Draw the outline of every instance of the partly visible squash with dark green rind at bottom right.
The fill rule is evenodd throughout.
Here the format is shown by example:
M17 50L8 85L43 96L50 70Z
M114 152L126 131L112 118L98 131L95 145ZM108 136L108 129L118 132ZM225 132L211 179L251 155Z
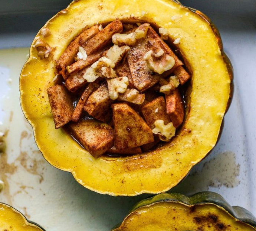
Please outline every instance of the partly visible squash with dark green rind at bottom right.
M256 218L213 192L163 193L139 202L112 231L254 231Z

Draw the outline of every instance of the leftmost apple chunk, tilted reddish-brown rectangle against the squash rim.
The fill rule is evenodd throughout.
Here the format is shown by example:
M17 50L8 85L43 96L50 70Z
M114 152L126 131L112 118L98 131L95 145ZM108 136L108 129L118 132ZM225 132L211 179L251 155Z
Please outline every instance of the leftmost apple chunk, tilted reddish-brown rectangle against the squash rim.
M64 85L54 85L47 89L55 128L58 129L72 120L73 104Z

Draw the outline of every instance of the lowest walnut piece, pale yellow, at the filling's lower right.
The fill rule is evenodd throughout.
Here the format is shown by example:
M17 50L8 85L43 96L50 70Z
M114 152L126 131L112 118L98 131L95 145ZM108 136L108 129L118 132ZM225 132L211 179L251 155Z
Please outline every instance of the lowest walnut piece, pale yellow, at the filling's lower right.
M170 139L175 136L176 129L173 126L173 123L170 122L167 125L164 124L164 120L158 119L154 122L155 128L152 129L154 134L158 134L160 140L170 141Z

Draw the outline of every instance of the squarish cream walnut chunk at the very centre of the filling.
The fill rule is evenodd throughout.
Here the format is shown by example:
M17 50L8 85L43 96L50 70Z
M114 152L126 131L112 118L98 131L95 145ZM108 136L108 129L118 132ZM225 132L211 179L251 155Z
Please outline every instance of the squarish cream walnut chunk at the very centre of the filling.
M107 79L109 97L113 100L118 98L119 93L124 93L129 85L128 78L126 76Z

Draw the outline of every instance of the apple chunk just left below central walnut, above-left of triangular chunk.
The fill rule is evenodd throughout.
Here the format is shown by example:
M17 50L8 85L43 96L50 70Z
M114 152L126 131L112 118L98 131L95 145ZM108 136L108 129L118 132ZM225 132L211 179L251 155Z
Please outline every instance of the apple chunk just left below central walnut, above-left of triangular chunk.
M87 101L83 109L88 112L89 115L103 122L111 120L111 104L112 99L109 98L108 86L102 84L96 91L94 91Z

